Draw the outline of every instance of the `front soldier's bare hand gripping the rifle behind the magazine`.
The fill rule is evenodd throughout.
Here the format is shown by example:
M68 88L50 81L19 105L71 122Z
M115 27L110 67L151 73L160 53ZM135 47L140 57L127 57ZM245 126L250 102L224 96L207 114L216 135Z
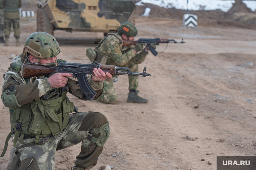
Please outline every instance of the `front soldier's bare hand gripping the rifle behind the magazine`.
M67 83L68 78L73 77L73 74L69 73L55 73L48 78L52 88L61 88L64 87Z

